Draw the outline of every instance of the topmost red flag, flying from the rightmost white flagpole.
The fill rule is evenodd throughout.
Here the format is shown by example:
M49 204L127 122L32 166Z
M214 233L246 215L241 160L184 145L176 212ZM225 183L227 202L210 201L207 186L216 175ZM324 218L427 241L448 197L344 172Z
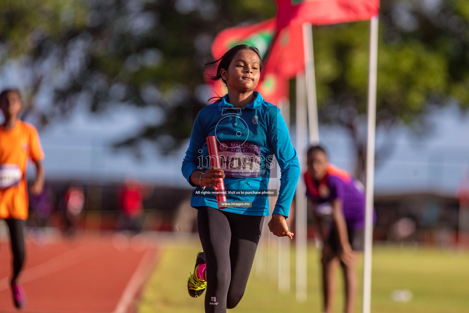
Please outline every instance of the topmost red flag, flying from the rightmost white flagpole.
M378 15L379 0L277 0L277 27L309 22L314 25L369 20Z

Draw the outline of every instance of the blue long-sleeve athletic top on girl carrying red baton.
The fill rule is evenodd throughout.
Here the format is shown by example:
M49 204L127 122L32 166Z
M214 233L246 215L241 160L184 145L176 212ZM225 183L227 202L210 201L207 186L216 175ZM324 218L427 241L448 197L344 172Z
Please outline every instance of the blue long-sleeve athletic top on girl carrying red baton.
M249 105L235 108L221 101L203 107L198 113L189 148L182 162L182 175L190 181L197 168L210 168L206 137L216 136L221 168L225 172L224 184L227 201L252 201L251 207L227 207L228 212L265 216L269 215L268 197L260 194L241 194L265 191L271 170L280 166L280 190L273 213L288 217L300 166L280 109L265 101L259 92ZM205 188L205 191L212 190ZM202 195L196 186L190 204L193 207L218 208L215 195ZM213 190L212 190L213 191ZM229 194L232 191L232 194Z

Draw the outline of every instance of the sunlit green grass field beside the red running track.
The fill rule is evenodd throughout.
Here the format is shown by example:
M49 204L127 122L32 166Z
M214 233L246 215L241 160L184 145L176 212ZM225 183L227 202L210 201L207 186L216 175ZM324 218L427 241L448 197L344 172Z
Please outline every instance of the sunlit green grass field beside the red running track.
M167 245L145 286L140 313L203 313L203 298L190 298L186 281L193 270L198 243ZM246 293L232 312L303 313L321 312L319 254L308 250L308 300L295 301L295 269L291 269L291 291L280 294L275 279L257 277L253 268ZM292 249L291 264L295 264ZM362 265L359 265L361 277ZM342 278L337 275L338 292L335 312L342 310ZM361 282L360 282L361 284ZM391 292L409 289L408 303L395 302ZM415 249L376 246L373 252L371 311L377 313L467 313L469 312L469 253L439 249ZM356 312L361 312L361 295Z

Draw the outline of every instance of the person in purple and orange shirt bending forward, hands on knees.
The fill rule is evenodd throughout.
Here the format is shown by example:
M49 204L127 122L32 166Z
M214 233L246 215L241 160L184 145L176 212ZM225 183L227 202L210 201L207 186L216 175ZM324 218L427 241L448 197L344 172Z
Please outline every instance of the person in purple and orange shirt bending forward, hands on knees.
M356 260L364 244L365 195L363 185L348 172L329 163L325 149L308 150L304 173L306 196L323 241L324 312L333 312L335 269L339 261L345 278L345 310L352 313L357 293Z

